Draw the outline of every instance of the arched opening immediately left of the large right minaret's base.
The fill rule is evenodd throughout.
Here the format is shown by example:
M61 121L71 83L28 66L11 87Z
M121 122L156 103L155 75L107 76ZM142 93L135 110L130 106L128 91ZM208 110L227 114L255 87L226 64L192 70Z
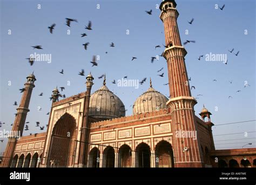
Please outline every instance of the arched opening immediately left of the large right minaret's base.
M156 145L156 167L170 168L174 167L172 146L167 141L160 141Z

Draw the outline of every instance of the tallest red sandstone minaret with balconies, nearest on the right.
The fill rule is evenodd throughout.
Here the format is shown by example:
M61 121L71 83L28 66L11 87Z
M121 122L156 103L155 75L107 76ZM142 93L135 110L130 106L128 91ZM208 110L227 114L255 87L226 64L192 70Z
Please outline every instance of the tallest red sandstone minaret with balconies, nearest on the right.
M174 0L160 4L160 19L164 23L164 57L167 60L171 99L167 106L171 108L174 167L203 167L203 154L199 147L194 105L197 101L191 97L185 65L186 50L181 46ZM185 133L185 134L184 134Z

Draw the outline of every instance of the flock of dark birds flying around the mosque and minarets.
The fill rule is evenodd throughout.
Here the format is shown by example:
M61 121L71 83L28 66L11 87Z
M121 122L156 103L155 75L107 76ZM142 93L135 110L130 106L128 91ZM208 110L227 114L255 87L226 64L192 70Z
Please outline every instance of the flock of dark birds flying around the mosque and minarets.
M219 9L221 10L221 11L223 11L224 10L224 7L225 7L225 4L223 5L223 6L221 6ZM152 15L152 10L149 10L149 11L145 11L148 15ZM72 19L72 18L65 18L65 22L66 22L66 26L68 26L68 27L71 27L71 23L78 23L78 20L77 19ZM194 18L192 18L190 21L187 21L188 22L188 24L193 24L193 22L194 22ZM53 30L55 30L55 28L56 28L56 23L53 23L52 25L50 25L50 26L48 26L48 29L49 29L49 32L51 33L51 34L53 34ZM91 31L92 30L92 22L91 21L89 21L89 23L85 26L85 30L88 30L88 31ZM86 37L87 36L87 33L81 33L80 34L81 35L81 37ZM195 40L186 40L183 44L184 45L186 45L186 44L188 44L188 43L196 43L196 41ZM86 42L86 43L84 43L83 44L83 47L84 47L84 50L87 50L88 49L88 47L89 47L89 42ZM164 48L167 48L168 46L166 46L166 45L164 45L164 44L162 44L163 45L163 47ZM112 43L110 43L110 45L109 45L110 47L115 47L115 45L114 45L114 43L112 42ZM33 49L37 49L37 50L43 50L43 47L42 47L42 45L35 45L35 46L31 46ZM156 45L155 47L154 47L154 49L155 50L157 50L158 48L161 48L161 45ZM235 56L238 56L238 54L239 54L239 51L237 51L237 52L234 52L234 49L232 49L232 50L228 50L230 53L233 53L233 54L235 54ZM107 52L105 52L106 54L107 54ZM159 54L159 57L163 57L163 53L161 53L161 54ZM201 58L203 58L204 57L204 55L203 54L201 54L200 56L199 56L199 58L198 58L198 60L201 60ZM30 58L26 58L26 59L28 59L29 60L29 64L32 66L34 63L35 63L35 58L32 58L32 57L30 57ZM136 56L132 56L131 57L131 61L134 61L134 60L137 60L138 58L136 57ZM151 57L151 63L154 63L154 61L155 60L158 60L158 58L157 57ZM92 61L90 61L90 63L92 64L92 67L93 66L98 66L98 63L97 63L97 58L96 58L96 56L92 56ZM226 60L226 62L225 62L225 64L227 65L227 60ZM157 76L159 76L159 77L164 77L164 72L162 72L162 70L164 70L164 67L161 67L159 70L157 70ZM61 69L60 71L58 71L60 74L64 74L64 69ZM78 75L79 76L85 76L85 71L84 71L84 69L81 69L79 72L78 72ZM103 78L104 77L104 74L102 74L100 77L98 77L98 79L101 79L101 78ZM127 79L128 78L128 76L124 76L123 77L123 79ZM139 84L140 85L143 85L144 83L145 83L145 81L146 81L146 77L145 78L143 78L142 80L140 80L139 81ZM188 79L189 81L191 81L191 77ZM217 82L217 79L213 79L213 81L214 82ZM116 80L115 79L113 79L112 81L111 81L111 83L112 84L116 84ZM230 83L232 84L232 81L230 81ZM166 83L166 84L163 84L163 85L169 85L169 83ZM245 85L245 87L246 86L250 86L250 85ZM59 87L60 88L60 91L64 91L65 90L65 87ZM196 87L195 86L191 86L191 90L195 90L196 89ZM19 91L22 93L22 92L24 92L25 91L25 88L21 88L21 89L19 89ZM238 90L237 91L237 93L239 93L239 92L241 92L241 90ZM43 92L42 93L40 93L39 94L39 96L43 96ZM65 94L59 94L59 96L60 97L62 97L62 98L66 98L66 96L65 96ZM203 94L197 94L197 97L196 97L196 99L199 99L199 97L200 96L203 96ZM169 98L170 98L170 96L168 96ZM79 97L74 97L74 98L79 98ZM232 96L230 95L229 97L228 97L228 99L230 99L230 98L232 98ZM52 100L52 97L50 97L50 100ZM71 105L72 103L70 103L70 105ZM18 106L18 104L17 104L17 101L15 101L14 102L14 106ZM131 106L130 106L131 107ZM127 111L127 110L126 110ZM17 114L15 114L15 115L17 115ZM46 115L49 115L49 112L46 114ZM0 122L0 127L2 127L2 125L4 125L5 123L3 122ZM29 122L26 122L25 123L25 131L29 131ZM11 124L11 126L12 126L12 124ZM36 127L39 127L39 129L42 131L42 130L44 130L44 126L40 126L40 122L36 122L36 125L35 125ZM46 127L47 127L48 125L46 125ZM30 135L31 135L32 133L30 133ZM3 142L3 140L0 140L0 141L2 141Z

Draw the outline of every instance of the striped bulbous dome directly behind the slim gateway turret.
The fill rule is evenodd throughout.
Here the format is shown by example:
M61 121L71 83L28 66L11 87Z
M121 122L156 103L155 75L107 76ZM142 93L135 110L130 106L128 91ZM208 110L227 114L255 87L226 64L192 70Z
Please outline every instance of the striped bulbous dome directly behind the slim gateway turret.
M105 77L103 86L91 94L89 115L103 120L125 117L124 104L107 88Z

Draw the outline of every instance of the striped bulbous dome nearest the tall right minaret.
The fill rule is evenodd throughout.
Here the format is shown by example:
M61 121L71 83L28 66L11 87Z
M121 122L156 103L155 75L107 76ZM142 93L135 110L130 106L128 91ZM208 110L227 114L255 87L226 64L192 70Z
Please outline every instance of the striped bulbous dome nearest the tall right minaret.
M168 98L160 92L154 90L150 79L150 88L137 98L133 104L133 114L158 111L167 108Z

